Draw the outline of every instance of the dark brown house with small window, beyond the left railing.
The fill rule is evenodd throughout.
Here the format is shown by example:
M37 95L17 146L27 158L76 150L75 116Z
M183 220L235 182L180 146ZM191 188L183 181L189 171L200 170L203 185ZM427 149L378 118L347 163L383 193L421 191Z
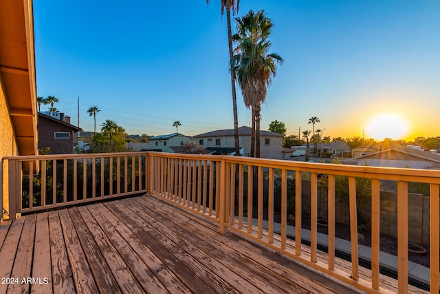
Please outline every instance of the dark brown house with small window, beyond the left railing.
M71 125L70 118L63 113L50 114L39 112L39 149L50 147L51 154L73 154L74 134L81 129Z

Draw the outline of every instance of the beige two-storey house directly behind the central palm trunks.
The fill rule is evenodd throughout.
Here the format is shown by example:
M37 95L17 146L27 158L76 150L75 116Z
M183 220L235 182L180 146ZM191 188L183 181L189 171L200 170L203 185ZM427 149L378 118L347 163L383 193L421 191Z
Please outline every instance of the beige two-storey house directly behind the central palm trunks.
M243 149L242 155L244 156L250 155L251 132L252 129L250 127L239 127L239 145ZM235 149L234 129L219 129L199 134L192 138L195 140L195 143L205 147L207 150L210 147ZM261 131L260 138L261 158L283 158L283 134Z

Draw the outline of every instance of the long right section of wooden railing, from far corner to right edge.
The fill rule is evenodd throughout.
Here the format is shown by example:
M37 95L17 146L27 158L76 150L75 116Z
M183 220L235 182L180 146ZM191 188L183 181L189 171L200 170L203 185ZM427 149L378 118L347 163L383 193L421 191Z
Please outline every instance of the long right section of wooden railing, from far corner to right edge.
M148 157L150 169L155 171L150 178L151 193L219 222L221 233L230 229L245 235L264 246L369 293L386 292L380 284L380 180L397 181L399 293L408 292L408 182L427 183L430 185L430 292L439 293L440 171L291 162L238 156L185 156L153 153ZM351 275L347 275L345 271L336 266L337 177L347 177L348 182ZM301 238L302 197L294 197L294 209L292 205L289 207L287 204L288 194L290 198L292 194L294 196L303 194L303 178L307 178L310 185L308 195L311 208L309 211L309 251L303 250L303 238ZM329 207L326 258L318 258L318 182L322 178L325 178L326 182ZM359 178L371 181L369 280L364 280L359 274L358 209L356 207L356 182ZM291 187L288 190L289 181ZM274 229L276 211L280 218L279 231ZM287 236L288 214L293 214L295 218L294 242L288 240ZM252 222L256 222L256 225ZM263 229L263 222L267 222L267 229Z

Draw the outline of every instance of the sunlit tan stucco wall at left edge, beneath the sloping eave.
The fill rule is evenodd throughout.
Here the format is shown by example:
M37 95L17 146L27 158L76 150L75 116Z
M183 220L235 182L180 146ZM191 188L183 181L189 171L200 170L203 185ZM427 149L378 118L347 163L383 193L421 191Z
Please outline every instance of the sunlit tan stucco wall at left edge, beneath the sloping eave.
M2 216L0 220L3 220L3 209L9 208L9 190L8 185L3 185L3 182L8 183L8 165L3 162L4 156L17 155L17 142L14 137L14 129L9 116L9 106L6 102L5 87L0 73L0 206Z

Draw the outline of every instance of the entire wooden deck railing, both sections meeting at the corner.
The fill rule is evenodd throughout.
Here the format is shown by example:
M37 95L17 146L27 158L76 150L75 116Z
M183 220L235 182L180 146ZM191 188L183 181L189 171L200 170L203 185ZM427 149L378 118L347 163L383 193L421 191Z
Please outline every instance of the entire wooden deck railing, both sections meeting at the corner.
M408 292L408 183L426 183L430 187L430 293L439 293L440 171L157 152L7 159L10 202L14 202L12 206L17 207L17 213L149 193L217 222L221 233L235 231L369 293L385 291L380 282L381 180L397 181L399 293ZM34 175L34 168L29 163L35 161L39 166L38 176ZM30 171L21 176L25 165L30 166ZM28 188L23 185L26 177L29 178ZM347 179L350 275L338 268L335 257L336 182L341 177ZM310 185L307 187L310 191L307 194L310 202L310 246L307 250L301 236L302 197L297 197L303 195L305 178ZM368 179L371 187L371 270L365 269L370 271L368 280L360 275L359 265L358 179ZM106 185L102 185L104 182ZM323 182L328 196L328 253L318 251L318 193ZM36 187L41 187L40 192ZM289 215L294 216L294 241L287 235ZM325 258L320 257L322 254Z

